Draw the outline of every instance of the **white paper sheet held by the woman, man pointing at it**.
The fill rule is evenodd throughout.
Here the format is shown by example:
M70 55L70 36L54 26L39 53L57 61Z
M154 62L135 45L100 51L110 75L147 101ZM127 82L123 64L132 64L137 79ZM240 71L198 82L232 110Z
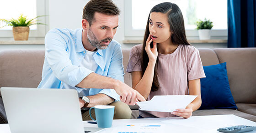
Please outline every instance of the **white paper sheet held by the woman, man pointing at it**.
M136 102L139 110L173 112L176 109L185 109L197 96L194 95L163 95L154 96L150 101Z

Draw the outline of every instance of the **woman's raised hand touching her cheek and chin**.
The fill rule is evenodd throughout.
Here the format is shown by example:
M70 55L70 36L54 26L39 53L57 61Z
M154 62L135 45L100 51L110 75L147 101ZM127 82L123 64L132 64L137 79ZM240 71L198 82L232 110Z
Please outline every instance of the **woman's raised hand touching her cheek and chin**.
M150 48L150 43L152 41L153 40L151 39L151 35L149 35L149 37L146 41L145 51L147 52L147 54L149 56L149 61L156 62L158 52L157 52L157 48L156 48L156 42L153 42L153 48Z

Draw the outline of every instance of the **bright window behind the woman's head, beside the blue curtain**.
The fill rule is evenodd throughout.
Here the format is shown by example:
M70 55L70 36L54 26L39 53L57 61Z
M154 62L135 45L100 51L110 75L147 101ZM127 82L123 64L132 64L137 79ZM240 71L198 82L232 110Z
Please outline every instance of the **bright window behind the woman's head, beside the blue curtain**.
M150 10L162 2L171 2L181 9L188 38L198 36L195 22L204 18L213 21L212 36L227 37L227 0L125 0L125 36L143 36ZM214 39L214 37L212 37Z

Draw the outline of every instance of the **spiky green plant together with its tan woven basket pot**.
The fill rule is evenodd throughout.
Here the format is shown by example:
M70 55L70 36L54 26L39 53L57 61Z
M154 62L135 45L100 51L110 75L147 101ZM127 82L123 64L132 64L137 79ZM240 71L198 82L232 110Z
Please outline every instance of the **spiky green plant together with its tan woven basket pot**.
M43 23L38 23L37 22L38 20L35 20L36 18L42 17L42 16L45 16L45 15L39 15L31 20L28 20L27 16L23 16L21 14L18 19L13 19L13 18L11 20L0 19L0 21L5 22L5 26L12 26L12 32L13 32L13 37L15 41L27 40L28 34L29 34L29 26L46 25Z

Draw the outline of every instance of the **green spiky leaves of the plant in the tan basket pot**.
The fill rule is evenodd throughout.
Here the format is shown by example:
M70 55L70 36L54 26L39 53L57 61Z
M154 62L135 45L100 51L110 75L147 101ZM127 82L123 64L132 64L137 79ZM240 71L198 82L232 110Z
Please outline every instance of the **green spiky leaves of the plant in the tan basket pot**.
M23 16L23 14L21 14L18 19L13 19L13 18L11 20L0 19L0 21L5 22L5 25L1 26L0 28L5 27L5 26L13 26L13 27L27 26L27 27L29 27L32 25L46 25L46 24L37 22L39 20L35 20L36 18L43 17L43 16L46 16L46 15L39 15L31 20L28 20L27 16Z

